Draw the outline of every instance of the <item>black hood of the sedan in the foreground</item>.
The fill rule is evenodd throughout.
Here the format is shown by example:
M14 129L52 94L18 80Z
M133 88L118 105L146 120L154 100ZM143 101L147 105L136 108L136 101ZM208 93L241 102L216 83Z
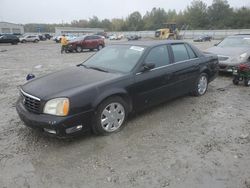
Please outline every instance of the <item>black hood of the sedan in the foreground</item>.
M24 84L22 90L40 99L63 97L65 92L75 88L96 87L103 82L121 77L121 73L107 73L87 69L83 66L69 68L40 78L35 78Z

